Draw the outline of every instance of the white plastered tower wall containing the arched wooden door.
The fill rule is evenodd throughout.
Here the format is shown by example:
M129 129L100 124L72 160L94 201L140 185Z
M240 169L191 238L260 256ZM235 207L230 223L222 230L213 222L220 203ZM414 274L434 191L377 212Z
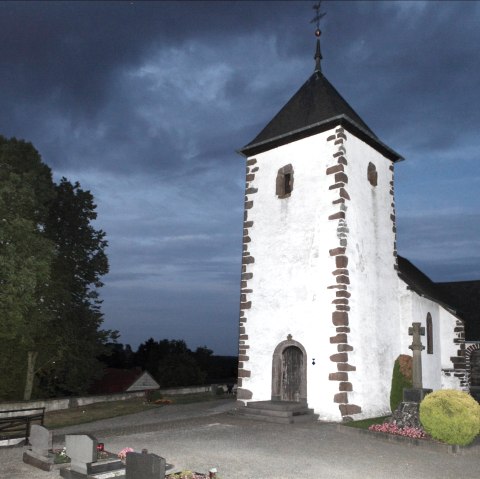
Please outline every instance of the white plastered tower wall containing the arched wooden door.
M258 188L249 210L251 243L255 263L248 271L253 278L246 332L250 346L251 371L242 387L252 391L252 400L271 397L272 355L275 347L291 334L307 352L309 406L321 418L339 419L333 404L337 384L328 380L332 370L327 360L332 354L333 269L329 249L336 244L336 224L328 221L335 198L329 190L331 179L326 168L333 164L336 151L321 133L256 155L259 170L250 187ZM289 198L275 194L278 170L293 166L294 186ZM315 365L312 360L315 359Z

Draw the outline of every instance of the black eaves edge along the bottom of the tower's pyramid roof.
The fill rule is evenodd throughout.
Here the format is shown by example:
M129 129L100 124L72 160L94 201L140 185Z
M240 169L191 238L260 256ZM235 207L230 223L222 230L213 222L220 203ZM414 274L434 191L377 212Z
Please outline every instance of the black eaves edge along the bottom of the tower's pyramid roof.
M396 151L392 150L378 138L373 137L368 131L366 131L364 128L358 125L358 123L355 123L346 115L338 115L328 120L314 123L313 125L309 125L305 128L300 128L298 130L285 133L284 135L279 135L266 141L254 143L253 145L246 145L240 150L237 150L237 153L245 157L257 155L258 153L263 153L264 151L270 150L272 148L277 148L287 143L291 143L292 141L301 140L303 138L307 138L308 136L322 133L338 125L343 126L350 133L365 141L365 143L370 145L372 148L375 148L377 151L382 153L386 158L393 161L394 163L404 160L404 158Z

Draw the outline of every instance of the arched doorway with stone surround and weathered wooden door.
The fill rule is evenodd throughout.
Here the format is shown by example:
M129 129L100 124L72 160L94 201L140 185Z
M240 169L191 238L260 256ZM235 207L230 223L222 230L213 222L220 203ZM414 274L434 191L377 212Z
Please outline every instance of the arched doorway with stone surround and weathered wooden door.
M282 341L272 358L272 401L307 402L307 353L298 341Z

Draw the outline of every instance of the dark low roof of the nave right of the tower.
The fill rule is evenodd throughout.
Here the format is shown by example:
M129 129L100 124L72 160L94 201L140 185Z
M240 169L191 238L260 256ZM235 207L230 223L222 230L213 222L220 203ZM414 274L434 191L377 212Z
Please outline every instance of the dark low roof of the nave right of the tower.
M398 256L398 275L411 290L462 319L467 341L480 340L480 281L435 283L402 256Z

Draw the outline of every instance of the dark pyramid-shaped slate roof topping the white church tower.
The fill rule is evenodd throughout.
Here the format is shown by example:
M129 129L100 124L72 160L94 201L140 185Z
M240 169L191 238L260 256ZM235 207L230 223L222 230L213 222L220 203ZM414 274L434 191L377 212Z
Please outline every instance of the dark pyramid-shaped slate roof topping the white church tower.
M272 121L240 150L245 156L275 148L322 131L344 126L392 161L401 156L382 143L320 71L293 95Z

